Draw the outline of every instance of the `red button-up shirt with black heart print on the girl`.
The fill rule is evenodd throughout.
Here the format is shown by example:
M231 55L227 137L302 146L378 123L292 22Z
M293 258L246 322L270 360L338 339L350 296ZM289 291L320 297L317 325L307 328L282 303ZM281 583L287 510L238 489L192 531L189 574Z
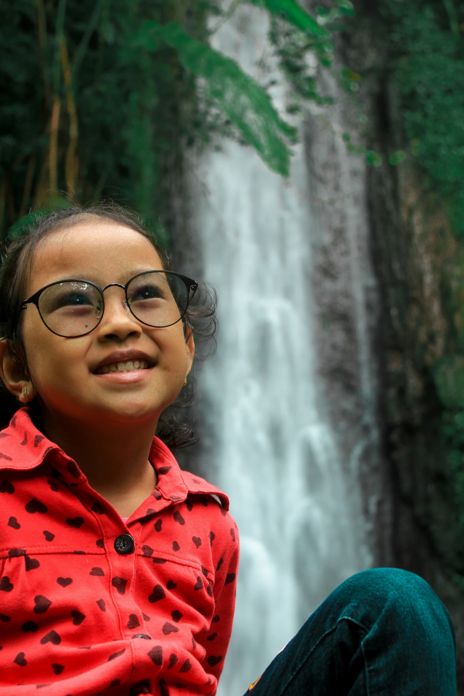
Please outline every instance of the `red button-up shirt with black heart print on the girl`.
M155 437L158 485L124 523L27 409L0 450L1 696L214 694L239 559L227 496Z

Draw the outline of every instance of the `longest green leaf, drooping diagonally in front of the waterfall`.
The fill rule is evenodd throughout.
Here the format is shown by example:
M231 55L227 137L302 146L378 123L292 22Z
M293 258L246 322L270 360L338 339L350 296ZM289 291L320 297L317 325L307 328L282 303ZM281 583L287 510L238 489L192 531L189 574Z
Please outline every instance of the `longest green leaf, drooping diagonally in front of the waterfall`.
M243 140L253 145L266 165L288 176L291 150L282 136L295 139L296 129L280 118L269 95L257 81L231 58L192 38L177 22L166 26L145 22L142 33L150 32L177 50L186 70L205 80L209 97L237 127ZM147 38L143 44L150 50Z

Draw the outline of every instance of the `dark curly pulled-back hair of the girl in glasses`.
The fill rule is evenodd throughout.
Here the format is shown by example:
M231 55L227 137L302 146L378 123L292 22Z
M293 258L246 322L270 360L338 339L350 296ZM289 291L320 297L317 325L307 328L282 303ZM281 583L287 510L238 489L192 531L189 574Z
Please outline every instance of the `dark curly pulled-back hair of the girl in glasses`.
M13 350L13 354L23 367L26 367L26 356L20 332L17 329L17 317L21 303L24 300L26 287L26 274L33 262L35 250L39 242L51 232L58 229L70 228L75 224L91 218L111 220L115 223L135 230L148 239L150 244L161 258L163 269L170 270L170 259L159 248L154 237L145 228L142 219L135 213L116 205L115 203L100 203L81 207L72 205L63 209L53 210L47 213L38 213L35 221L24 228L23 234L3 244L0 265L0 336L7 340ZM186 310L184 328L189 327L193 331L195 343L198 342L198 351L195 360L205 357L216 348L214 334L217 328L216 320L217 296L214 288L205 283L200 283L193 301ZM209 350L201 350L205 345ZM182 390L173 404L161 413L157 427L157 436L175 451L177 448L186 447L196 442L193 429L187 422L188 419L182 413L193 404L195 380L189 379L190 391ZM0 381L1 384L1 381ZM0 427L5 427L15 411L19 409L20 402L11 395L3 385L0 393ZM32 411L37 407L32 406ZM179 416L179 409L182 413Z

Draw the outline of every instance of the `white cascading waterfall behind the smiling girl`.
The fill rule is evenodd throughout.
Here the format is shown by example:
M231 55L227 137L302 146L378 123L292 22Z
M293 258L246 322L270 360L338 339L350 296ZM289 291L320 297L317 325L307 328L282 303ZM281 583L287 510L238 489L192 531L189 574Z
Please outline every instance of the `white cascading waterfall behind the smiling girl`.
M261 79L259 59L273 60L267 31L262 10L241 6L213 45ZM282 109L282 78L273 77ZM289 180L231 141L204 153L191 174L190 224L202 277L218 290L220 319L217 354L199 376L202 473L230 496L241 535L221 696L244 693L327 594L374 562L365 507L375 505L376 491L366 503L356 467L344 461L319 374L313 242L321 216L297 125L302 138ZM356 310L362 279L351 283L365 366L366 321ZM367 372L360 370L361 399L371 389ZM360 420L370 442L373 431L366 436L365 415ZM355 432L352 458L364 449L362 437Z

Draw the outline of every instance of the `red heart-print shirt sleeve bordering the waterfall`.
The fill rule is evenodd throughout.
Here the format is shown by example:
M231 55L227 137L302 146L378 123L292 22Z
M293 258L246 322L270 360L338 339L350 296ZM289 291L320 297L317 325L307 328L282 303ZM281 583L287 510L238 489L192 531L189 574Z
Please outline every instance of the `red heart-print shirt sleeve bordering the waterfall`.
M224 667L225 654L229 647L232 622L234 620L235 595L237 588L237 571L239 569L239 536L235 528L236 540L234 540L232 552L227 560L219 563L221 567L214 578L214 616L211 619L209 631L198 636L198 642L206 650L202 667L208 675L219 680ZM211 695L216 693L216 688L211 690Z

